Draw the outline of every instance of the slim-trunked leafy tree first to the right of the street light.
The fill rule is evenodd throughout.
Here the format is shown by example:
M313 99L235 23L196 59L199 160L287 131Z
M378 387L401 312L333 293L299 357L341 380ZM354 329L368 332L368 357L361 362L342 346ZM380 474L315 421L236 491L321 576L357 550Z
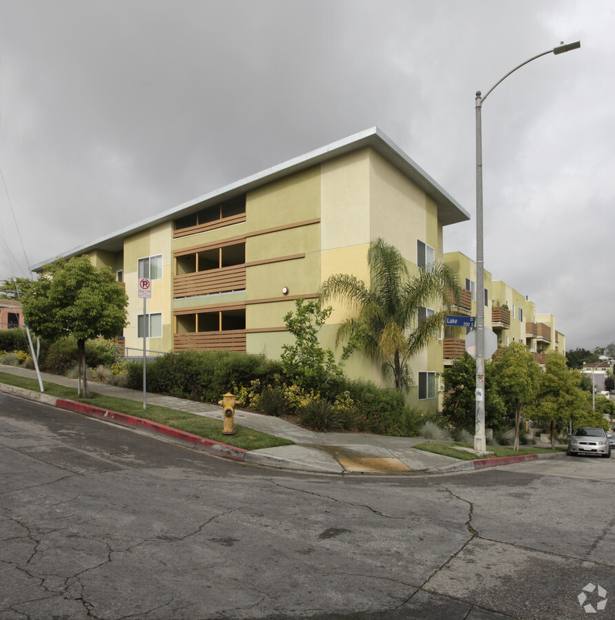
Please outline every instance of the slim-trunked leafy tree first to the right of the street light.
M523 406L534 401L540 366L522 342L512 342L503 349L495 364L497 390L509 406L514 407L514 449L519 450L519 425Z

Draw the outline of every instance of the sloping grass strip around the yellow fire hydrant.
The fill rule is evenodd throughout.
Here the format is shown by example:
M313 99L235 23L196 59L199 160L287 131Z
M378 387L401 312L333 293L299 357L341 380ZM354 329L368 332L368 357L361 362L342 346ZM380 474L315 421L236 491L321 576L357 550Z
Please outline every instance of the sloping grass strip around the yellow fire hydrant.
M0 373L0 382L35 392L39 391L39 382L36 379ZM92 383L91 386L94 387L96 384ZM47 381L43 382L43 387L45 389L45 394L57 398L75 400L77 402L100 407L101 409L143 417L145 420L165 424L166 426L178 428L180 431L185 431L186 433L192 433L199 437L206 437L207 439L221 442L222 444L228 444L236 448L244 448L244 450L291 446L294 443L290 440L282 439L282 437L275 437L274 435L267 435L267 433L261 433L260 431L253 431L253 429L246 428L240 424L235 424L236 435L222 435L222 420L212 420L210 417L205 417L203 415L195 415L194 413L177 411L176 409L168 409L167 407L160 407L152 404L148 404L147 409L143 409L142 401L104 396L96 392L91 392L90 398L80 398L77 396L76 389Z

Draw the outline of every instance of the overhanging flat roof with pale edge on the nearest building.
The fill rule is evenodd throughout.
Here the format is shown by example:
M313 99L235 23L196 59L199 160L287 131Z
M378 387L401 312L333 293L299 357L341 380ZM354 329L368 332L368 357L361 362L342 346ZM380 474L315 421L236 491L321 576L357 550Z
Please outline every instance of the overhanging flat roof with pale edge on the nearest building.
M303 169L320 164L324 161L329 161L335 157L356 151L363 147L373 148L377 153L386 158L388 162L404 173L413 183L418 185L428 196L433 198L438 207L438 218L443 225L456 224L470 219L468 211L463 209L463 207L457 203L457 200L452 198L441 185L436 183L435 180L419 167L419 165L410 159L402 149L388 138L388 136L382 133L377 127L372 127L371 129L359 132L353 136L348 136L348 138L333 142L325 147L315 149L314 151L290 159L289 161L263 170L262 172L258 172L258 174L247 176L242 180L236 181L236 183L225 185L225 187L209 192L209 194L204 194L203 196L194 198L194 200L189 200L187 203L163 211L152 218L141 220L134 225L120 229L110 235L75 247L54 258L33 265L31 269L32 271L39 271L41 267L57 258L81 256L81 254L87 254L87 252L93 251L94 249L111 252L121 251L123 249L124 239L129 235L147 230L157 224L192 214L210 204L220 203L238 194L250 192L278 178L300 172Z

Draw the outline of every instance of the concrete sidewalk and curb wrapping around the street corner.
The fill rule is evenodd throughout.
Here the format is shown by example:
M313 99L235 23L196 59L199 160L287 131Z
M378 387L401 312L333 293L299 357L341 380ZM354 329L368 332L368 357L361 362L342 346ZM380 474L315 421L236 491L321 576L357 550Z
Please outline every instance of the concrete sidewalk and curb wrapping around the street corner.
M35 371L3 366L0 371L23 377L36 379ZM60 375L41 373L43 381L53 382L76 388L77 380L68 379ZM92 382L90 389L98 393L143 402L143 392L129 390L117 386ZM528 455L520 457L505 457L503 459L478 459L473 461L460 461L443 455L432 454L416 450L412 446L424 442L421 437L386 437L384 435L371 435L368 433L316 433L306 428L295 426L290 422L280 420L278 417L252 413L237 409L235 422L240 426L253 428L256 431L269 433L277 437L284 437L295 442L293 446L279 448L265 448L255 451L244 451L240 448L225 446L218 442L203 440L195 435L189 435L181 431L174 431L168 427L153 422L145 422L124 414L103 411L95 407L56 399L41 393L13 388L0 384L0 391L11 393L20 397L29 398L70 409L85 415L102 418L108 422L116 422L132 428L139 428L145 432L165 435L165 438L191 444L191 446L208 451L221 457L241 460L246 463L269 466L274 468L291 469L329 474L348 473L446 473L453 471L471 471L486 466L497 466L534 460L538 458L553 458L565 455L565 453L551 455ZM147 404L156 404L169 409L188 411L196 415L205 415L216 420L222 420L222 407L213 404L183 400L172 396L162 396L147 393ZM531 458L530 458L531 457Z

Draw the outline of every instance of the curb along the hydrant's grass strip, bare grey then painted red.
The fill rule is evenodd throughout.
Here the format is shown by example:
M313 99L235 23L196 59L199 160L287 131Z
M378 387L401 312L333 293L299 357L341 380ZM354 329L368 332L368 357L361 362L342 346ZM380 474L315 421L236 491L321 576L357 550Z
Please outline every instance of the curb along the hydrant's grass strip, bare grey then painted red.
M43 404L59 407L59 409L66 409L67 411L81 413L82 415L94 417L98 420L107 420L121 426L140 428L146 431L160 433L161 435L167 435L168 437L173 437L176 440L188 442L189 444L194 445L194 447L198 448L199 450L208 452L216 456L225 457L227 459L244 461L248 453L248 451L244 450L243 448L235 448L233 446L228 446L227 444L222 444L220 442L206 439L205 437L193 435L192 433L178 431L177 428L171 428L171 426L165 426L165 424L158 424L158 422L145 420L143 417L127 415L126 413L119 413L118 411L109 411L107 409L101 409L100 407L83 404L82 402L65 400L64 398L56 398L55 396L50 396L48 394L32 392L25 388L18 388L5 384L0 384L0 391L28 400L34 400L37 402L42 402Z

